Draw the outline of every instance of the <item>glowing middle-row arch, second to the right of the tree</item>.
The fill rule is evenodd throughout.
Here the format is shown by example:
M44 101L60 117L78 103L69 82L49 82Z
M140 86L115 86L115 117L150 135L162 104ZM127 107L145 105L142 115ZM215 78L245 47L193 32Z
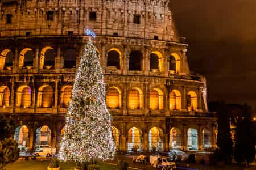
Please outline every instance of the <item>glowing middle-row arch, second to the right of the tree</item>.
M133 87L129 91L128 108L129 109L142 109L143 107L143 93L138 87Z

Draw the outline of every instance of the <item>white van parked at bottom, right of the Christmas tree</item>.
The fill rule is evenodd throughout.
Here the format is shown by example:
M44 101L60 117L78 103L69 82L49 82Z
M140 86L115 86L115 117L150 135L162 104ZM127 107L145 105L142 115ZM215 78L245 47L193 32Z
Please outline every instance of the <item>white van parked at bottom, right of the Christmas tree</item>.
M166 156L150 156L150 164L153 165L154 168L162 168L162 167L172 167L176 169L175 162L172 162L170 158Z

